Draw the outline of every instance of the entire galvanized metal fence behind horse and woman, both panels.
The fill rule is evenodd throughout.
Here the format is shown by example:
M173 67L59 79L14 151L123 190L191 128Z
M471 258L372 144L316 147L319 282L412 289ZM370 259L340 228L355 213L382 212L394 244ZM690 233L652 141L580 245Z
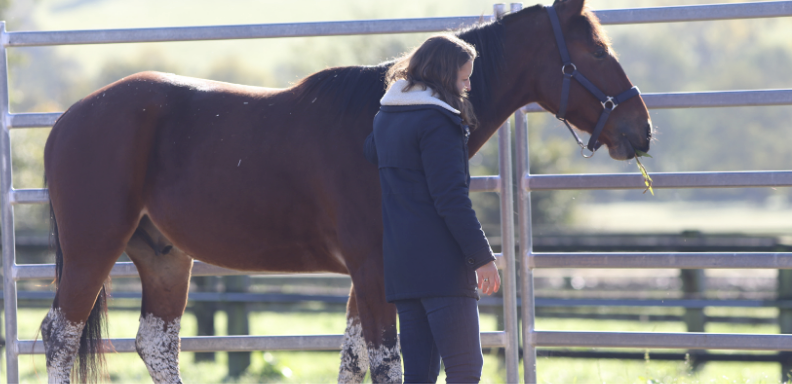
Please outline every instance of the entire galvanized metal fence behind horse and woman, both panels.
M512 11L522 5L512 3ZM505 5L495 6L502 14ZM694 20L721 20L757 17L792 16L792 1L724 4L708 6L663 7L598 11L603 24L629 24ZM495 16L484 17L489 20ZM298 36L334 36L352 34L384 34L434 32L478 22L479 16L401 20L366 20L348 22L317 22L258 24L238 26L142 28L92 31L6 32L0 22L0 209L2 220L3 286L6 316L6 363L9 383L19 381L19 354L42 353L43 345L17 338L16 282L24 279L49 279L53 265L17 265L14 248L14 211L17 204L48 202L45 189L14 189L11 183L11 143L9 130L52 126L60 113L11 113L8 100L6 49L9 47L108 44L158 41L190 41L248 39ZM723 107L736 105L792 104L792 90L645 94L650 108ZM523 292L523 340L525 346L525 381L536 382L537 346L599 346L681 349L756 349L792 350L792 335L732 334L667 334L615 332L548 332L534 330L533 269L535 268L782 268L792 269L792 254L769 253L534 253L531 248L530 192L562 189L638 189L642 181L637 174L613 175L531 175L528 172L527 119L525 113L538 112L527 106L515 114L517 140L521 284ZM502 249L499 265L504 274L505 330L482 333L484 347L506 348L508 382L518 381L518 345L516 316L516 280L514 273L514 228L511 180L510 129L508 123L499 132L500 172L497 176L476 177L471 191L500 192ZM655 188L727 188L788 187L792 172L721 172L653 174ZM6 230L11 229L11 230ZM196 263L193 275L244 274ZM134 277L131 263L118 263L113 277ZM341 335L325 336L236 336L182 338L183 351L252 351L252 350L337 350ZM118 352L134 351L133 339L112 340Z

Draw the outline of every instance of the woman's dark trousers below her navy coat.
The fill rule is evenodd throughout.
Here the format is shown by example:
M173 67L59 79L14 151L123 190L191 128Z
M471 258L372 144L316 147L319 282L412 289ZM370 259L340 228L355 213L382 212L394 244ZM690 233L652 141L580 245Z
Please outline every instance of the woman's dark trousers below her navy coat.
M481 355L476 299L432 297L395 301L405 383L434 383L445 364L447 383L478 383Z

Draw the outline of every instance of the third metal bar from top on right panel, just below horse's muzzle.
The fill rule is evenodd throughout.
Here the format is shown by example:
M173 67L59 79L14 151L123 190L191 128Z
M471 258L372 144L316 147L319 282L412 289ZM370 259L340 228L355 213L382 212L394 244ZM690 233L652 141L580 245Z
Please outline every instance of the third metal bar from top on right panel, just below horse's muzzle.
M655 189L792 187L792 171L657 172ZM645 189L639 173L527 175L522 187L530 191Z

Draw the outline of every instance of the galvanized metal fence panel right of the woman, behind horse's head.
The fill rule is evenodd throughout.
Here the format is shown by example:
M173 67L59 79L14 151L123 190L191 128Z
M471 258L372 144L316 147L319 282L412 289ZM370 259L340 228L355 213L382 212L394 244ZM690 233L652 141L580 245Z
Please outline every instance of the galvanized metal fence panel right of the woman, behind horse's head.
M792 1L718 4L597 12L603 24L744 19L792 16ZM649 108L791 105L792 90L644 94ZM535 253L531 238L531 191L643 189L640 174L532 175L526 113L515 114L517 140L522 330L525 382L536 383L536 347L792 350L792 335L552 332L534 329L533 270L536 268L771 268L792 269L792 253ZM792 172L653 173L654 188L790 187Z

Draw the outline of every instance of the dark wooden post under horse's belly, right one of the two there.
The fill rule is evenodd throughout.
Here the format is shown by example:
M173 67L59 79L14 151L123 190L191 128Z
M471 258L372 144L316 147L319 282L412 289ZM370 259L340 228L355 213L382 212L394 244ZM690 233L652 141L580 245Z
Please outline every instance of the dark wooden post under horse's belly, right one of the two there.
M223 277L226 292L247 292L250 285L248 276ZM228 315L228 335L248 335L248 308L244 302L227 302L225 311ZM228 352L228 376L239 377L250 366L250 352Z

